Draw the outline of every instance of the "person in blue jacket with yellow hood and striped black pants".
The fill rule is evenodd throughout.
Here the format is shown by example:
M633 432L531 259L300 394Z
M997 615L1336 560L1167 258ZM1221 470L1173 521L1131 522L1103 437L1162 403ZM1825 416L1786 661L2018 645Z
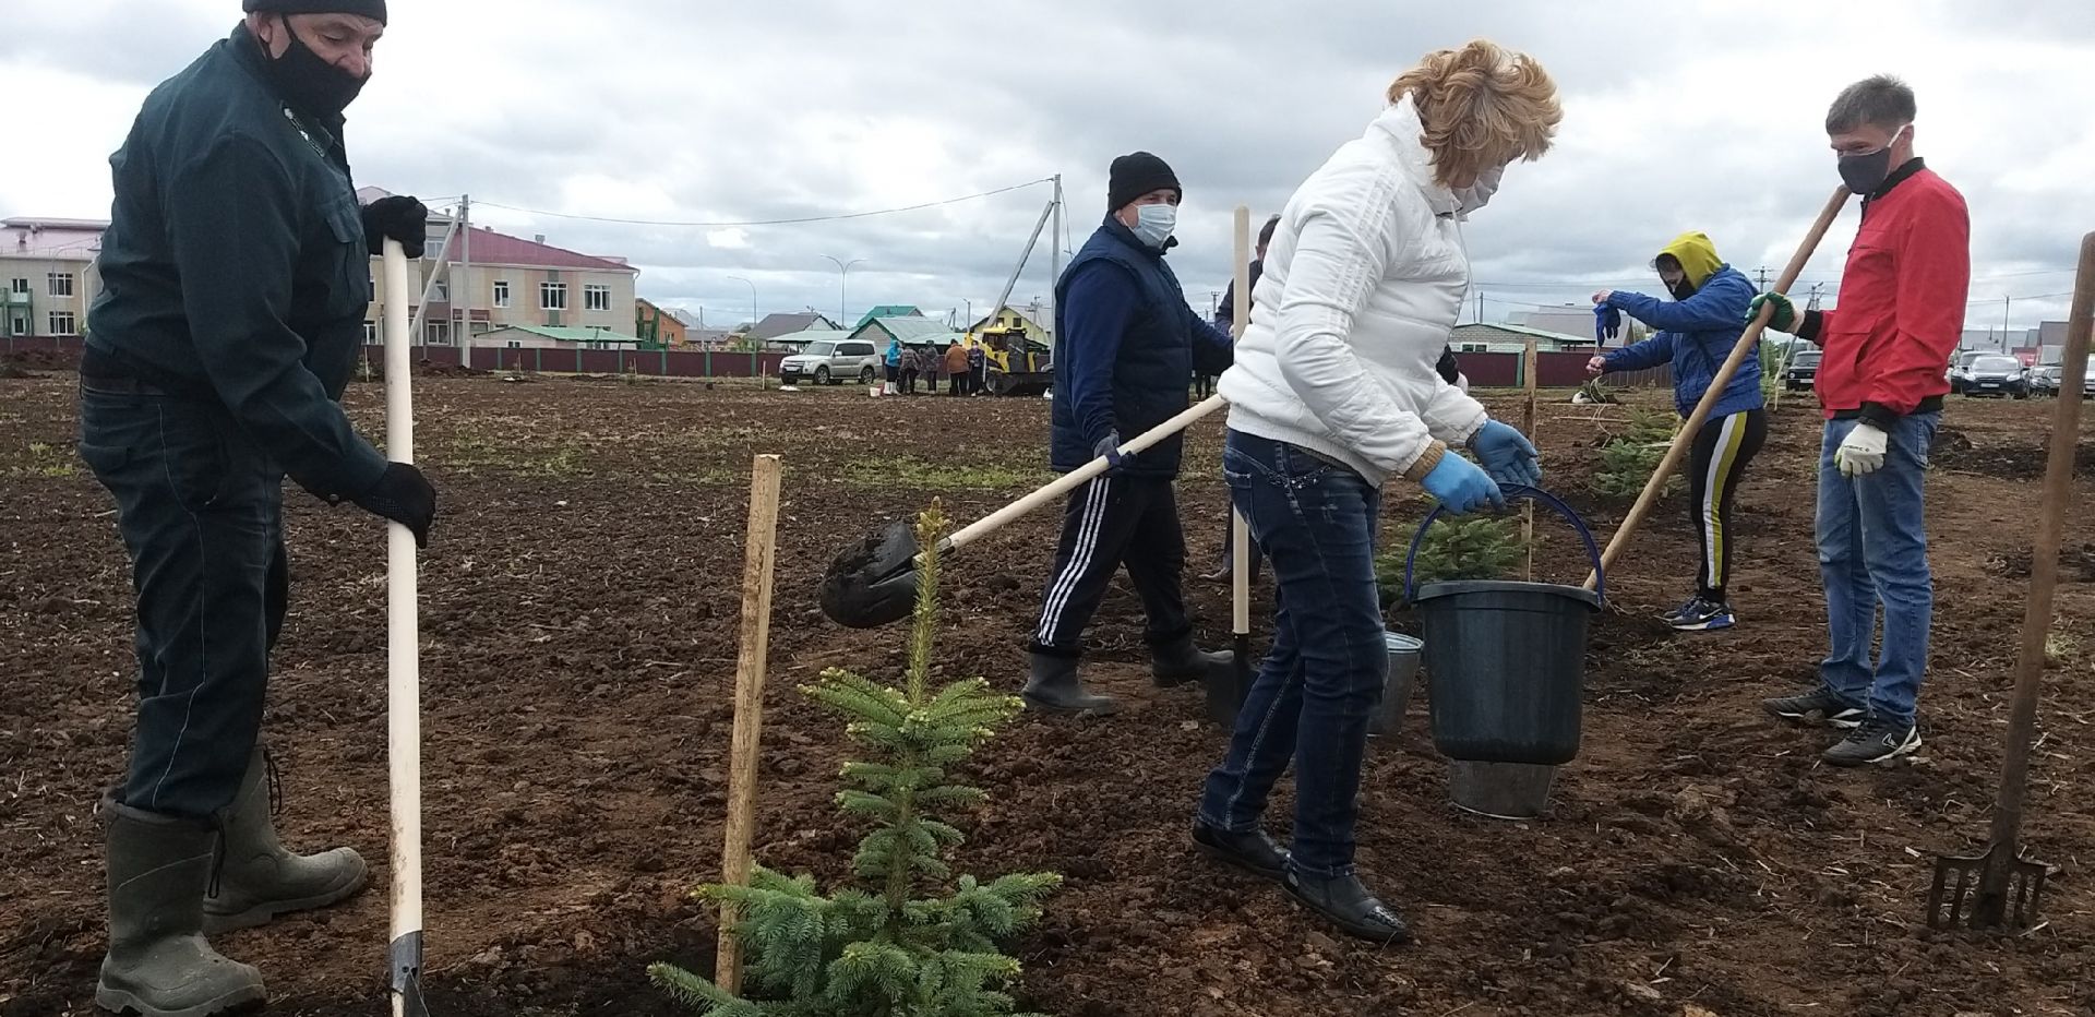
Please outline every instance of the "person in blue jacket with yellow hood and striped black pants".
M1754 283L1716 256L1716 245L1701 233L1682 233L1653 260L1672 302L1645 296L1601 291L1592 302L1619 308L1653 329L1645 342L1594 356L1586 371L1645 371L1659 365L1674 369L1674 407L1691 415L1703 392L1716 382L1718 367L1739 344L1745 306L1754 302ZM1701 572L1695 598L1666 621L1682 631L1728 629L1737 625L1724 585L1730 581L1733 528L1730 503L1739 478L1768 440L1768 417L1760 403L1760 356L1747 356L1724 386L1710 419L1695 432L1689 459L1689 514L1701 539Z

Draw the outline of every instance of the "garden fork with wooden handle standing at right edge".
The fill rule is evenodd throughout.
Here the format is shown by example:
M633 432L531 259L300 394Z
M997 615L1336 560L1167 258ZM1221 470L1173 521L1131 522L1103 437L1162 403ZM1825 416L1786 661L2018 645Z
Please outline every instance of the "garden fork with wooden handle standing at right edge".
M2066 319L2059 359L2059 407L2051 421L2051 457L2036 510L2036 545L2030 547L2030 600L2022 610L2022 654L2015 658L2015 700L2007 721L2007 759L2001 795L1992 805L1992 837L1982 856L1936 858L1927 889L1927 925L1953 929L2028 929L2045 900L2051 866L2022 858L2022 795L2030 780L2030 742L2036 736L2036 698L2045 679L2045 640L2051 635L2051 596L2059 581L2059 543L2074 499L2074 457L2080 445L2080 390L2089 369L2089 331L2095 325L2095 233L2080 239L2080 275Z

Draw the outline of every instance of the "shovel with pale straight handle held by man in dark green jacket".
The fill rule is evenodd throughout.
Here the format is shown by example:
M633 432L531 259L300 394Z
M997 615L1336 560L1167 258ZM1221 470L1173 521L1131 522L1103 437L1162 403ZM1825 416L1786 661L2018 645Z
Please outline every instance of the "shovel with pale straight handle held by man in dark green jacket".
M415 461L409 388L406 252L385 241L385 457ZM394 1017L423 1017L421 998L421 627L415 533L385 524L385 761L392 784L392 935L385 948Z

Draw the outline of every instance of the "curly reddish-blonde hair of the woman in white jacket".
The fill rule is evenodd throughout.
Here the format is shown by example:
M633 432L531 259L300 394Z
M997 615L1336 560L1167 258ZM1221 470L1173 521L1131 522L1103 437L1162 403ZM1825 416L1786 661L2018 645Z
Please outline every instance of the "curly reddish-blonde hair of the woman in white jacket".
M1550 151L1563 107L1557 82L1525 52L1492 40L1435 50L1389 84L1389 103L1412 96L1441 187L1473 182L1485 170Z

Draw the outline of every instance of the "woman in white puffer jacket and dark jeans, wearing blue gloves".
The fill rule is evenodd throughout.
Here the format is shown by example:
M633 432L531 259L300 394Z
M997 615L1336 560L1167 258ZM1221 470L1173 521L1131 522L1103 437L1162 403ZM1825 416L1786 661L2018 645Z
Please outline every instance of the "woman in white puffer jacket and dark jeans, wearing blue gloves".
M1192 837L1370 939L1410 935L1353 874L1360 761L1389 667L1374 585L1383 484L1402 478L1473 512L1504 503L1500 482L1542 476L1534 445L1435 363L1469 291L1460 218L1508 164L1548 151L1561 115L1525 55L1483 40L1427 55L1288 199L1221 375L1230 499L1280 591L1274 648ZM1259 816L1288 761L1295 843L1282 851Z

